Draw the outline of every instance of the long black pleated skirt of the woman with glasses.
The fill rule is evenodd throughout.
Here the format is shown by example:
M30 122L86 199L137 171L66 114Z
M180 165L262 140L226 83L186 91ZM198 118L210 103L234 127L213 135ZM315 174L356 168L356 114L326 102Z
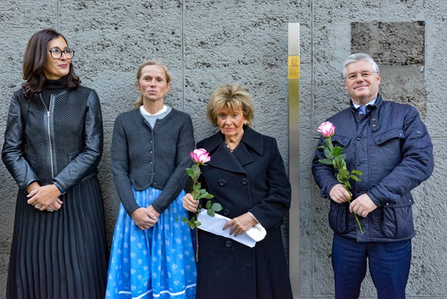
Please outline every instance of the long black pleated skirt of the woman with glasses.
M38 211L18 192L6 298L104 298L109 262L97 177Z

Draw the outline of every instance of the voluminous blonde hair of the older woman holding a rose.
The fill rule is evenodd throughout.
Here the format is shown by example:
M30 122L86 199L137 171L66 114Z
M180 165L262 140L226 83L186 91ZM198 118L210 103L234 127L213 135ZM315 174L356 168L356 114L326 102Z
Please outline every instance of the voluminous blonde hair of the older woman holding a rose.
M217 112L224 106L233 112L242 110L247 125L252 125L254 119L252 97L244 87L239 84L225 84L212 92L206 107L206 116L212 126L217 127Z

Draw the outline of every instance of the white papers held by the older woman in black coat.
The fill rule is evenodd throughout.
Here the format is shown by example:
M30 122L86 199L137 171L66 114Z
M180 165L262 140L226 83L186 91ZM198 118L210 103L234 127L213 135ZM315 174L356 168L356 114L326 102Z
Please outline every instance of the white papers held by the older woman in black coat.
M247 236L247 234L244 233L242 235L235 236L235 234L233 233L232 235L230 235L231 226L227 227L225 231L223 230L223 227L225 226L225 224L227 224L227 221L230 220L230 218L227 218L220 214L215 214L215 216L212 217L208 215L206 210L203 210L198 216L198 221L200 221L201 223L198 228L202 229L203 231L208 231L211 234L225 236L225 238L232 238L239 243L253 248L256 245L256 241Z

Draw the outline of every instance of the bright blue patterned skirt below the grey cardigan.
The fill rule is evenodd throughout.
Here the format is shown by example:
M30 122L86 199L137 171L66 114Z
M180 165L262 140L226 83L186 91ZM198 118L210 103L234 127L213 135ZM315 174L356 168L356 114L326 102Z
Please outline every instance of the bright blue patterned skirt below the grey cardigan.
M135 191L136 204L149 206L161 190ZM107 276L106 298L195 298L197 270L190 228L182 218L185 192L142 231L119 206Z

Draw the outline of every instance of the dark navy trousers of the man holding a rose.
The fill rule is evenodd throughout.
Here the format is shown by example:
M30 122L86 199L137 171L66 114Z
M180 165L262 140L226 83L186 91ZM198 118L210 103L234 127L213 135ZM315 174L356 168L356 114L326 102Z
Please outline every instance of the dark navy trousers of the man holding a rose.
M332 266L335 298L359 298L367 261L378 299L405 298L411 262L411 240L361 243L353 238L334 234Z

